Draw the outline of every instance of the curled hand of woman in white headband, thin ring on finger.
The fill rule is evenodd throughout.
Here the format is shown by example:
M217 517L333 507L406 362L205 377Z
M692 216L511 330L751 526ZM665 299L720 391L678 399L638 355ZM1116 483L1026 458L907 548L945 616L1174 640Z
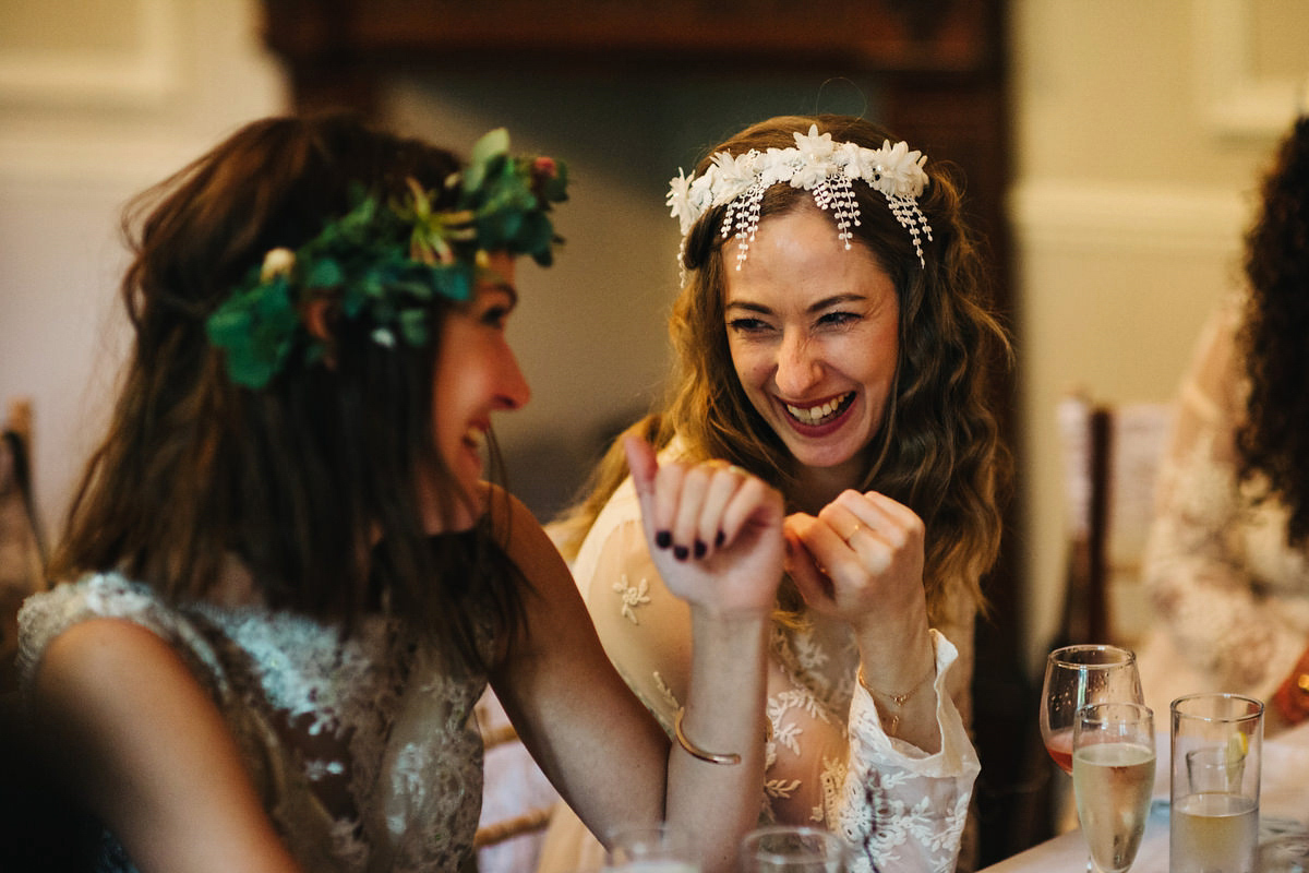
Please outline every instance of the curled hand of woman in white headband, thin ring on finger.
M844 491L818 517L787 517L787 569L816 613L856 633L925 628L924 527L914 510L869 491Z

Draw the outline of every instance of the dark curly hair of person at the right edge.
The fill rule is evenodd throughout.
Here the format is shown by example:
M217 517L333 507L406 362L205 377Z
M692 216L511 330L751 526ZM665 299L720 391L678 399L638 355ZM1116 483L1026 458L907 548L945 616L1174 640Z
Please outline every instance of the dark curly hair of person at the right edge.
M1245 238L1249 296L1240 347L1249 377L1237 429L1242 480L1291 512L1291 546L1309 539L1309 116L1282 141Z

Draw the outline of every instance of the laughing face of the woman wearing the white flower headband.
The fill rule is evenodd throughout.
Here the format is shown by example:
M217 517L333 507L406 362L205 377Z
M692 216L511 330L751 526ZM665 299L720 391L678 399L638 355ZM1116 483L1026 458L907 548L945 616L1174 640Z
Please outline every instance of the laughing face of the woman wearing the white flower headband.
M809 207L764 219L740 271L736 254L724 247L725 319L746 397L796 461L853 484L899 355L890 276Z

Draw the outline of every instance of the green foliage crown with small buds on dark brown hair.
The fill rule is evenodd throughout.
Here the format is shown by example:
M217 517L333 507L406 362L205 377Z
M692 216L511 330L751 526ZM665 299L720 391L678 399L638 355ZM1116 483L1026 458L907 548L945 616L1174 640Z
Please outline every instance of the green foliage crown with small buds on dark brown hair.
M509 135L499 128L478 140L467 168L445 185L458 188L449 212L435 212L435 198L414 179L404 196L385 203L356 186L350 212L317 237L295 251L268 251L206 323L232 381L263 387L297 346L308 363L323 356L323 342L301 319L315 294L331 294L344 318L368 319L376 343L420 347L429 339L433 294L469 300L486 253L554 260L559 238L546 213L568 196L563 162L511 156Z

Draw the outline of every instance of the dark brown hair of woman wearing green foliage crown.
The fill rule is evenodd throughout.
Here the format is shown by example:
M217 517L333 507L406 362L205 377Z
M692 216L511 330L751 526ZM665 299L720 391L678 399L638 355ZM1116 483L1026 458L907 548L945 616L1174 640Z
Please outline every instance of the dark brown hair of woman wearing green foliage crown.
M386 607L486 666L474 620L512 636L521 579L487 529L427 535L419 497L429 476L446 518L459 499L432 435L437 344L456 304L436 296L420 348L384 347L365 318L336 313L330 364L292 355L255 391L233 385L204 332L264 253L297 249L348 212L352 186L398 196L412 177L449 208L458 169L450 152L350 115L276 118L128 205L120 294L135 344L52 579L117 569L187 601L234 558L272 607L347 628Z

